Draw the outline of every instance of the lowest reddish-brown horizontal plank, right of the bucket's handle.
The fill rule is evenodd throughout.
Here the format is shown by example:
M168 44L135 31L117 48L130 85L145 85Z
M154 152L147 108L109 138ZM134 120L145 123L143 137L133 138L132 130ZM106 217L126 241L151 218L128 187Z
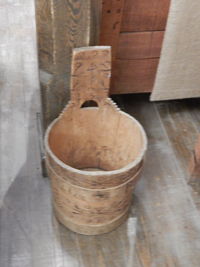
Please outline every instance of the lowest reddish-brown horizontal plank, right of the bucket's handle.
M111 94L151 92L159 58L116 60L113 66Z

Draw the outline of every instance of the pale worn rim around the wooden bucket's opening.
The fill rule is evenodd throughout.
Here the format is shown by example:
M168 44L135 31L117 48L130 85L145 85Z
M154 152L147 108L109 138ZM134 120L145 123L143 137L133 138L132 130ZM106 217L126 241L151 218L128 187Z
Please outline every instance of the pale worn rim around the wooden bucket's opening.
M124 116L127 116L129 119L131 119L132 121L134 121L137 126L139 127L141 134L142 134L142 138L143 138L143 146L142 149L139 153L139 155L137 156L136 159L134 159L133 161L131 161L129 164L125 165L122 168L116 169L116 170L111 170L111 171L86 171L86 170L80 170L77 168L74 168L70 165L65 164L62 160L60 160L51 150L50 146L49 146L49 133L51 131L51 129L53 128L53 126L56 124L56 122L60 119L59 117L56 118L55 120L53 120L50 125L48 126L46 132L45 132L45 137L44 137L44 146L45 146L45 153L48 153L53 160L59 165L61 166L63 169L66 169L68 171L71 172L75 172L77 174L81 174L81 175L89 175L89 176L109 176L109 175L115 175L115 174L120 174L120 173L124 173L125 171L128 171L132 168L134 168L138 163L140 163L140 161L143 159L146 151L147 151L147 135L146 132L144 131L144 128L142 127L142 125L140 124L140 122L138 120L136 120L134 117L132 117L131 115L129 115L128 113L119 110L118 112L122 113Z

